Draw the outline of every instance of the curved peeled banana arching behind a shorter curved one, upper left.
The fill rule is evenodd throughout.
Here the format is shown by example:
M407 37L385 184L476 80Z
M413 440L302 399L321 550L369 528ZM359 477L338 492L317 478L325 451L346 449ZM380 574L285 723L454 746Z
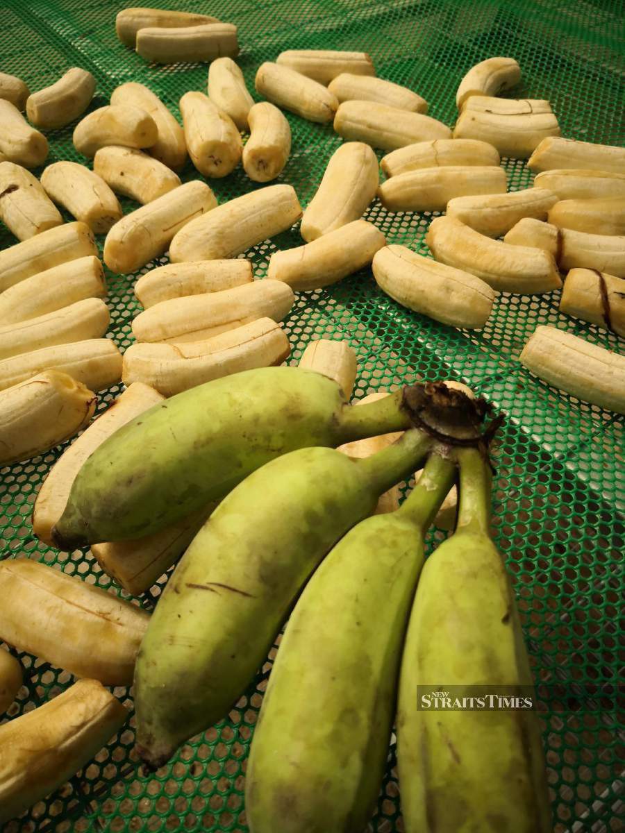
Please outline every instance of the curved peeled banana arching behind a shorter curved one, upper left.
M147 147L145 152L174 171L183 167L187 159L183 128L152 90L143 84L129 81L115 87L111 93L111 103L145 110L157 127L157 140L152 147Z

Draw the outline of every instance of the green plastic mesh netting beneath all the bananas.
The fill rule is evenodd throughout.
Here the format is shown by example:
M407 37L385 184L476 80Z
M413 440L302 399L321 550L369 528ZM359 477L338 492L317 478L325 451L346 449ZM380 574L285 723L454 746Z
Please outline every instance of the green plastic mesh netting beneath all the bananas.
M431 115L452 125L455 90L463 74L485 57L510 55L522 66L523 80L515 94L548 98L564 136L619 144L625 134L621 0L150 4L193 7L236 23L242 46L238 62L251 90L258 65L283 49L364 50L373 56L380 77L413 88L428 100ZM68 67L85 67L97 78L92 107L107 103L117 84L144 82L179 116L179 97L189 89L205 89L207 67L148 66L115 37L114 17L120 7L106 0L8 0L2 15L0 68L37 89ZM292 183L306 205L341 139L331 127L291 115L288 120L293 152L279 181ZM72 147L72 127L48 136L47 162L85 161ZM522 162L504 163L511 189L530 184L532 177ZM198 173L189 163L183 179L193 178ZM257 187L240 168L210 184L219 202ZM134 207L133 202L123 203L125 212ZM423 238L428 213L390 214L374 202L367 217L389 242L427 252ZM0 239L2 246L13 242L7 234ZM264 275L275 249L300 243L294 229L256 247L251 257L257 275ZM132 341L130 322L138 312L132 294L136 277L107 275L109 335L122 350ZM538 323L564 327L612 349L617 349L617 338L562 316L557 295L501 295L482 332L461 332L399 307L377 290L371 272L365 271L323 292L301 294L286 327L293 363L313 337L347 338L358 352L356 397L416 377L458 378L507 413L494 451L494 529L515 582L539 691L546 701L543 737L555 831L598 833L622 830L616 712L600 711L592 702L581 708L562 704L548 684L576 684L583 694L587 684L617 680L623 541L619 511L625 502L622 422L537 382L520 367L517 356ZM116 387L102 396L100 408L118 392ZM32 536L29 515L37 488L61 453L62 447L0 471L2 557L38 558L109 587L111 580L88 553L59 554ZM432 531L429 551L442 539L442 531ZM165 577L140 600L144 606L153 606L164 581ZM228 719L183 746L156 775L144 777L138 770L131 721L84 771L5 830L246 831L245 759L272 658L273 654ZM40 705L71 682L67 673L32 656L20 659L26 685L11 716ZM115 694L132 705L127 690ZM378 833L403 830L394 764L392 746L371 827Z

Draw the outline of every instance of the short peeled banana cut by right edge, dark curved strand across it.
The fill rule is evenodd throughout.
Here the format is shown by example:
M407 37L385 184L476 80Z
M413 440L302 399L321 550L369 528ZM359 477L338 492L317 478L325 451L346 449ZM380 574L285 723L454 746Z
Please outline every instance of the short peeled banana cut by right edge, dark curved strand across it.
M562 287L560 312L625 337L625 280L596 269L571 269Z

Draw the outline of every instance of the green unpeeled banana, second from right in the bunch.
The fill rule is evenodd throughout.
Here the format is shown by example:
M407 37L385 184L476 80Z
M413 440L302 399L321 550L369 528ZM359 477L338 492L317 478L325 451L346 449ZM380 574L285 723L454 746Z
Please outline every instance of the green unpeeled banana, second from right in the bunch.
M354 526L303 591L254 731L253 833L365 829L388 756L423 535L454 475L453 462L431 455L408 500Z

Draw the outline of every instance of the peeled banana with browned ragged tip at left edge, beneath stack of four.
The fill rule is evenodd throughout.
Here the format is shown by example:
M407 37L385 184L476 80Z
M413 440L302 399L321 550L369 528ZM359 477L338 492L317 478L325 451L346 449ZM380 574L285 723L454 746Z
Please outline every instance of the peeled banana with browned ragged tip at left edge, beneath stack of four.
M96 404L87 387L56 370L0 391L0 466L64 442L87 425Z

